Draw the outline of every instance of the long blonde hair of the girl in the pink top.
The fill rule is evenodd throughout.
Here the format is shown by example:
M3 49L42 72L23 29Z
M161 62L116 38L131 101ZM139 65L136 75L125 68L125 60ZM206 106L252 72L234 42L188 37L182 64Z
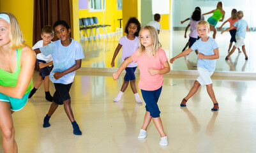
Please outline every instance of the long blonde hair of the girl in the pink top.
M158 41L158 33L156 33L156 29L154 29L153 26L151 25L145 25L144 27L142 27L140 29L140 33L139 33L139 38L141 36L141 32L143 30L148 30L150 33L150 39L152 41L152 53L153 56L156 55L156 53L158 52L158 48L162 47L161 43ZM138 56L140 54L142 54L145 51L145 47L142 45L141 40L140 40L140 47L139 47L139 53Z

